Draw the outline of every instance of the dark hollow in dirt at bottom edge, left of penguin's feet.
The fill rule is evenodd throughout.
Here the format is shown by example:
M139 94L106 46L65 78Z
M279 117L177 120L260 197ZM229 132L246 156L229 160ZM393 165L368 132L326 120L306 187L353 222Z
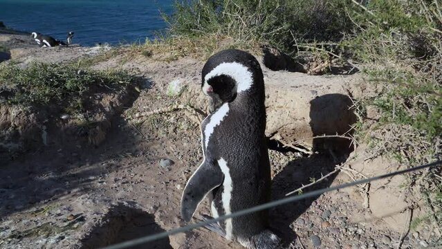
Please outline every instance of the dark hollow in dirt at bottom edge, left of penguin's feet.
M80 248L102 248L116 243L138 239L150 234L165 232L155 222L154 215L139 208L133 208L119 203L113 206L102 218L101 223L89 232L89 236L82 239ZM167 249L171 248L169 237L158 239L147 244L131 246L132 249Z

